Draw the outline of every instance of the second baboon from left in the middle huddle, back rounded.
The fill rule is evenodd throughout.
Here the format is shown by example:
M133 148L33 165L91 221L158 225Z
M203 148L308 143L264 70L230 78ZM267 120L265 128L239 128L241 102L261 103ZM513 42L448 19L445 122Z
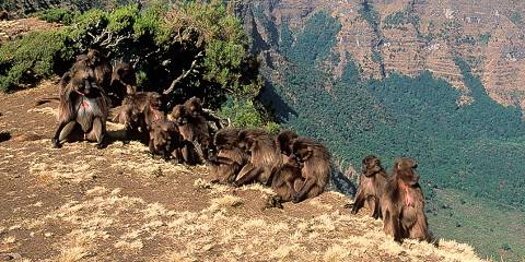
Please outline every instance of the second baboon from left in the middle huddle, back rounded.
M252 182L270 186L282 165L275 139L262 129L245 129L238 132L238 147L249 155L249 162L240 171L234 186Z

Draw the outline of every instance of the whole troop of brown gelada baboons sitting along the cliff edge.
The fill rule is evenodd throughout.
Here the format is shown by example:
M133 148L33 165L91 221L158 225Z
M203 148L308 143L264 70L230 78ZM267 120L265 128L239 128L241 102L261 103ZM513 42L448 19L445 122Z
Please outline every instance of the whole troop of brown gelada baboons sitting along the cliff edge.
M220 118L202 108L198 97L165 114L161 94L137 92L136 85L130 64L119 63L113 69L97 50L80 55L61 78L58 98L37 100L59 100L52 145L90 140L103 148L109 109L118 106L113 121L125 124L126 140L142 141L151 154L166 160L207 164L213 183L271 187L276 195L270 206L315 198L328 184L332 163L322 143L291 130L275 135L257 128L223 127ZM352 213L366 204L374 218L383 218L384 231L396 241L430 240L416 162L397 158L390 175L375 156L365 157L362 164Z

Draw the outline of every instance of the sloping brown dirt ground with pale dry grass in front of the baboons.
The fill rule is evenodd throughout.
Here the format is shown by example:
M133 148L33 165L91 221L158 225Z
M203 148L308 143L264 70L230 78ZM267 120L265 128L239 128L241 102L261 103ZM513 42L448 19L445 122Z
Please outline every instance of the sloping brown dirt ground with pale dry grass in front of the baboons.
M381 221L326 192L283 210L271 190L209 183L206 166L152 158L138 143L51 148L54 82L0 94L0 261L479 261L472 248L396 245Z

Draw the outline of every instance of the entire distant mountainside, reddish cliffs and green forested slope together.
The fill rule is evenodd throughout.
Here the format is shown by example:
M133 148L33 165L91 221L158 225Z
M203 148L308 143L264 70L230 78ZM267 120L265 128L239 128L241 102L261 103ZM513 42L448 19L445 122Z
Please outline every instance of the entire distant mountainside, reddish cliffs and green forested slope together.
M350 170L368 154L387 166L416 158L439 234L517 260L522 233L505 223L488 230L482 213L464 213L447 193L493 200L478 210L490 215L525 211L524 87L508 73L522 70L522 5L275 0L246 1L238 13L266 64L262 97L284 126L327 143ZM454 224L470 234L443 226Z

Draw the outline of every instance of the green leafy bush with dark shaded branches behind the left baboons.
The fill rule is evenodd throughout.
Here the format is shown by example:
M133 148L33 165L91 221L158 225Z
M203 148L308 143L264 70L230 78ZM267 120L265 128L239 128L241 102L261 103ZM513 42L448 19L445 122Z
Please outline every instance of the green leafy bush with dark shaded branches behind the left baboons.
M168 107L199 96L207 107L229 107L221 111L238 124L271 120L255 99L261 87L258 61L248 52L240 20L222 1L130 4L110 12L52 9L37 16L70 26L35 32L3 45L0 88L4 92L61 75L75 55L96 48L115 62L133 64L139 90L166 91Z

